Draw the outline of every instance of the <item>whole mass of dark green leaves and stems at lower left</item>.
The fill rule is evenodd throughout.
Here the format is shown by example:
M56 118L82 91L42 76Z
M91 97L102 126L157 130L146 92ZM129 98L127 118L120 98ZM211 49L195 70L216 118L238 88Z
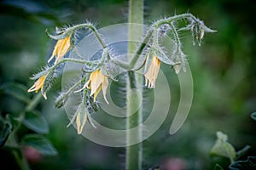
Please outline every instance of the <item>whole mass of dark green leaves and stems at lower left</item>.
M0 116L0 146L8 148L13 153L20 168L29 168L22 149L26 146L38 150L43 156L56 156L55 147L41 134L49 133L48 123L44 116L35 110L41 94L30 99L30 94L26 92L27 88L20 83L5 83L1 86L1 94L14 97L24 103L24 107L18 113L9 113L5 117ZM34 133L23 133L23 126Z

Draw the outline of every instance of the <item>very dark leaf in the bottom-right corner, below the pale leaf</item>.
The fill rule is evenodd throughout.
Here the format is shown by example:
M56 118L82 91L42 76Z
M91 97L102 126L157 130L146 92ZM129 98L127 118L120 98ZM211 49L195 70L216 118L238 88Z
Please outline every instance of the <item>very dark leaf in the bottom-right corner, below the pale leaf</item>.
M231 170L255 170L256 156L248 156L246 161L235 161L230 165Z

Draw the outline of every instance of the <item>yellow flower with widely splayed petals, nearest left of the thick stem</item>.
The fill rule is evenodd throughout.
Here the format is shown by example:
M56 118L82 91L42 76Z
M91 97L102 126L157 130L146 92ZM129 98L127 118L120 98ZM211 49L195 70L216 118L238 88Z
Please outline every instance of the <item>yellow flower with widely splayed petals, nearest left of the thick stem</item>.
M106 98L107 88L108 88L108 77L104 76L100 69L90 73L90 78L88 82L84 84L83 88L81 88L76 92L82 91L84 88L90 89L90 96L93 95L94 102L96 101L97 95L102 90L103 97L105 101L108 103L108 100Z

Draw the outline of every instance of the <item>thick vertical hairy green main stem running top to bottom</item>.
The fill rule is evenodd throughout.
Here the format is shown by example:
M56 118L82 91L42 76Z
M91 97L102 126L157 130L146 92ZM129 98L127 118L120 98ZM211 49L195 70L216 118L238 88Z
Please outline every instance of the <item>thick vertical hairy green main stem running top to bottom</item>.
M137 40L138 37L143 35L143 26L134 25L132 23L143 24L143 0L130 0L129 3L129 46L128 54L134 54L137 50L137 43L131 42ZM139 40L139 39L138 39ZM142 122L142 105L137 107L137 103L141 103L143 93L143 76L135 73L134 71L128 71L128 77L126 81L126 101L127 101L127 130L132 127L140 127ZM136 92L136 94L135 94ZM136 100L136 101L135 101ZM135 113L133 113L136 111ZM137 133L129 133L126 135L126 170L142 169L143 161L143 143L133 144L132 141L141 141L142 129L137 128Z

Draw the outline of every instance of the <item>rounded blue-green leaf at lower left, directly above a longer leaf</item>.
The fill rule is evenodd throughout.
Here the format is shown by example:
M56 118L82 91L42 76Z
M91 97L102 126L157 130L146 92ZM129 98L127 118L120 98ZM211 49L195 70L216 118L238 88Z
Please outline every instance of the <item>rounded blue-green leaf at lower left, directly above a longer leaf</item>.
M22 123L36 133L48 133L49 127L44 116L35 111L26 111Z

